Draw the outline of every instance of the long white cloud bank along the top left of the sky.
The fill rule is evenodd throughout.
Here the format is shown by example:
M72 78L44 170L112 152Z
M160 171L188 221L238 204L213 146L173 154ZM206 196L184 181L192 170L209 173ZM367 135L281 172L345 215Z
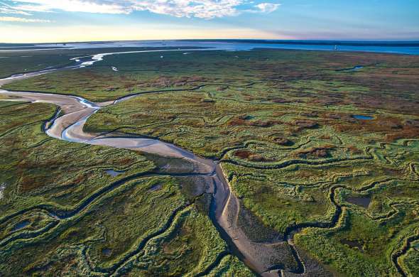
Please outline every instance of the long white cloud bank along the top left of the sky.
M176 17L217 18L239 14L249 0L15 0L13 6L0 1L0 13L72 11L85 13L131 13L150 11ZM258 11L272 12L279 4L256 5ZM2 12L3 11L3 12Z

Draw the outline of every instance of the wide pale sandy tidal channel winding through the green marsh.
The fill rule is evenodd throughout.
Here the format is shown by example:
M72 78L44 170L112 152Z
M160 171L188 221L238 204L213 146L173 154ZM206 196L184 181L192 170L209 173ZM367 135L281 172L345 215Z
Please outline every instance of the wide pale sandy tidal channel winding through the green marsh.
M145 53L156 51L166 50L131 51L125 53ZM181 50L179 49L179 51ZM97 112L99 109L112 104L117 104L131 97L136 97L136 95L122 97L121 99L117 99L114 102L94 103L89 102L87 99L83 99L82 97L76 97L72 95L46 94L38 92L11 92L5 89L1 89L3 85L6 85L10 82L48 74L57 70L69 70L87 67L93 65L99 60L102 60L107 55L116 54L124 53L104 53L91 57L73 58L72 60L74 65L70 65L68 67L11 75L11 77L0 80L0 94L9 97L9 99L13 101L43 102L55 104L60 107L60 112L63 115L59 116L58 114L60 113L55 114L55 116L53 116L53 118L50 119L50 121L48 121L44 127L45 133L55 139L62 139L75 143L87 143L91 145L132 149L168 158L180 158L187 163L192 163L195 165L195 173L190 175L200 175L205 179L207 183L206 193L212 194L212 208L209 216L211 217L215 227L217 227L221 237L229 245L229 249L232 254L238 256L239 259L244 261L244 263L249 266L252 271L261 276L278 276L279 271L281 271L283 268L278 268L276 264L273 264L273 261L276 260L276 256L278 256L275 245L260 244L251 241L251 239L246 237L246 234L243 232L243 230L241 230L241 228L236 224L236 218L238 217L240 210L240 203L239 200L231 192L229 183L227 182L222 168L219 163L217 163L217 161L201 158L191 153L190 151L186 151L170 143L159 141L158 139L143 138L141 136L126 136L124 134L113 133L104 135L91 134L83 131L83 126L85 126L89 116L92 116L92 114ZM199 89L200 87L195 89ZM81 212L83 209L85 209L85 207L87 207L98 197L104 193L109 192L111 188L116 187L116 185L110 185L103 190L99 190L99 192L89 197L87 202L80 204L79 207L75 208L75 210L71 212L57 214L52 210L45 210L48 210L48 212L56 219L72 217L74 214L77 214L78 212ZM16 215L17 214L15 214L15 216ZM55 226L56 223L51 224L48 228L53 228ZM9 241L6 242L8 243ZM120 264L123 264L122 261Z

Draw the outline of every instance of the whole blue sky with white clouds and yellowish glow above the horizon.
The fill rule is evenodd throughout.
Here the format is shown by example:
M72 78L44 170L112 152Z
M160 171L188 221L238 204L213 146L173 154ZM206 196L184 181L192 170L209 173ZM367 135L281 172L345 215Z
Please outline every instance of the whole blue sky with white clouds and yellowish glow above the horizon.
M0 43L419 40L419 0L0 0Z

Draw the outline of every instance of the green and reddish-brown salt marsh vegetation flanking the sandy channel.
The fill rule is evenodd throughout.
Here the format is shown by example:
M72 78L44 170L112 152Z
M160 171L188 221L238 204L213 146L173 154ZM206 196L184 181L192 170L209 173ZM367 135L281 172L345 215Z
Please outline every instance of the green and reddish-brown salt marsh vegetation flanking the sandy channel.
M273 269L285 276L418 275L418 57L188 52L109 56L6 89L129 96L85 131L156 138L219 161L238 201L234 224L276 245ZM347 70L356 65L368 66ZM176 170L175 161L50 139L41 126L56 107L0 104L1 273L254 274L212 224L200 182L129 178ZM75 209L112 183L73 217L45 210Z

